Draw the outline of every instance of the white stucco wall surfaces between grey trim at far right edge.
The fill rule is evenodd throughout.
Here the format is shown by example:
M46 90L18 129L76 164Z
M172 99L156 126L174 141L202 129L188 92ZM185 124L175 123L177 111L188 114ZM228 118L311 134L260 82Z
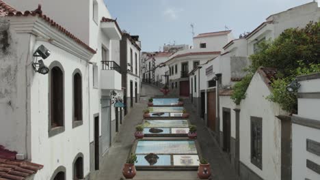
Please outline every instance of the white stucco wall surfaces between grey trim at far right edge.
M320 91L320 79L299 81L298 93ZM317 98L298 98L298 114L296 116L320 121L320 100ZM317 172L306 167L306 160L320 164L320 157L306 151L306 140L320 142L320 130L292 123L292 177L298 179L320 179ZM303 162L303 163L302 163Z

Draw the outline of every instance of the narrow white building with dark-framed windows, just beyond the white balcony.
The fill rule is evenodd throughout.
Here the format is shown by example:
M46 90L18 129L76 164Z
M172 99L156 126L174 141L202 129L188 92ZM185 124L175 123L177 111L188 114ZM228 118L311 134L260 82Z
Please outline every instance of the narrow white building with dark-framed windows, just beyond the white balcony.
M124 88L124 115L133 104L140 99L140 50L141 42L138 35L123 33L120 41L120 66L122 73L122 88Z

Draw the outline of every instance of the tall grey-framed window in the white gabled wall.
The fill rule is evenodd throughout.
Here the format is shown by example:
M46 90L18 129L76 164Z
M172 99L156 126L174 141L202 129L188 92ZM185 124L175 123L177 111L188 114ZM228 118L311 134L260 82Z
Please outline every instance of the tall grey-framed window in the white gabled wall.
M251 121L251 163L262 170L262 118L250 117Z

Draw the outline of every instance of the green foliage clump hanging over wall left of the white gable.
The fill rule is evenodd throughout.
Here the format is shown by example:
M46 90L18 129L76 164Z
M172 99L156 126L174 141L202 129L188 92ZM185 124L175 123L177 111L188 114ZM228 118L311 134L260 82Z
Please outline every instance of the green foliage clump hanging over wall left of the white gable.
M245 92L250 85L252 77L253 74L249 72L232 88L233 93L230 98L233 100L233 102L235 102L235 104L240 104L241 100L245 99Z

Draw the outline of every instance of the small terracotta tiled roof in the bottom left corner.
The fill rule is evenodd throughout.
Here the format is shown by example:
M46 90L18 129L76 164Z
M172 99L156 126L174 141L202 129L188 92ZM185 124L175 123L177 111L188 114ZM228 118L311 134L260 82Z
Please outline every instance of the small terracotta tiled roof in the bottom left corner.
M0 179L23 180L35 174L43 166L32 162L15 160L16 152L0 145Z

